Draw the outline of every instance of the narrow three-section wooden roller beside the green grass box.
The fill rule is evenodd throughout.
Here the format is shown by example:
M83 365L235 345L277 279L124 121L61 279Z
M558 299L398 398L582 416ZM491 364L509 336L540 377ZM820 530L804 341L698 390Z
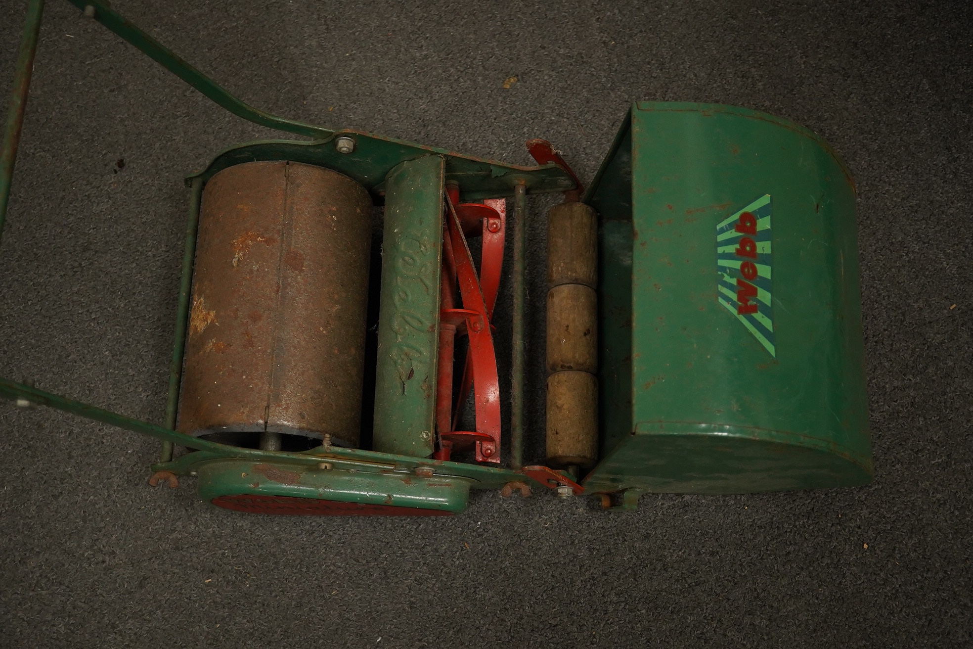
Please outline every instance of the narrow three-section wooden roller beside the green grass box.
M597 223L581 202L548 212L547 457L597 459Z

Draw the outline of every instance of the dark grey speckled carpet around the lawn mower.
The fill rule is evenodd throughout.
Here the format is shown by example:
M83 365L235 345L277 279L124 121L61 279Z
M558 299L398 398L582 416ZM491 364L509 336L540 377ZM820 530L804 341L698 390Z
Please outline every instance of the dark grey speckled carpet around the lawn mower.
M48 5L0 248L0 376L160 422L182 177L270 131ZM23 8L0 4L5 97ZM247 517L189 480L148 487L151 440L0 404L0 646L973 644L967 3L116 8L257 107L509 162L546 137L588 180L636 99L809 126L859 189L876 479L621 515L489 492L451 520Z

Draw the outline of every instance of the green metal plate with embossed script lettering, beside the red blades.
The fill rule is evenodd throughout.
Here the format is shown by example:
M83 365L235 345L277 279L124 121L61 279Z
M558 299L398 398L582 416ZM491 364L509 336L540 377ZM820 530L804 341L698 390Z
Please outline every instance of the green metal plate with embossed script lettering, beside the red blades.
M376 451L428 457L436 420L444 161L399 164L385 181L378 306Z

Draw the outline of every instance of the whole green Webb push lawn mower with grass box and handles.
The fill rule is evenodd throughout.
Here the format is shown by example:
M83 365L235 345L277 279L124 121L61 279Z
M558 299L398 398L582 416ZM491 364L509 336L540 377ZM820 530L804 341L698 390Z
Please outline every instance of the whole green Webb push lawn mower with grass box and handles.
M527 143L528 167L255 110L106 2L71 2L235 115L309 139L235 146L187 179L164 426L25 382L0 379L0 395L156 437L152 484L195 476L202 498L243 512L443 515L471 488L530 487L632 509L643 492L871 479L855 190L807 129L635 103L583 191L543 140ZM30 0L20 46L0 227L42 6ZM527 196L557 192L547 465L524 466ZM508 198L503 394L491 318ZM475 425L463 426L470 394Z

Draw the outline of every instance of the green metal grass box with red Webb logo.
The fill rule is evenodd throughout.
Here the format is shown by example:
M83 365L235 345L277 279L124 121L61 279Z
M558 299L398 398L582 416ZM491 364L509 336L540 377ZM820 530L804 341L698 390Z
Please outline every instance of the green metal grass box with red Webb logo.
M844 164L807 129L720 105L638 103L617 142L587 199L601 215L602 403L625 408L631 390L631 423L603 415L585 486L869 482Z

